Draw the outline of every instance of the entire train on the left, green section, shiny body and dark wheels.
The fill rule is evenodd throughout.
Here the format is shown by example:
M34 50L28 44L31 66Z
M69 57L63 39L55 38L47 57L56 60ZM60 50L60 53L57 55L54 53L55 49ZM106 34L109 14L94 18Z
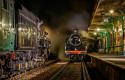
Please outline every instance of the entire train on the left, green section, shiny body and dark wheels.
M0 0L0 79L44 65L51 41L19 0Z

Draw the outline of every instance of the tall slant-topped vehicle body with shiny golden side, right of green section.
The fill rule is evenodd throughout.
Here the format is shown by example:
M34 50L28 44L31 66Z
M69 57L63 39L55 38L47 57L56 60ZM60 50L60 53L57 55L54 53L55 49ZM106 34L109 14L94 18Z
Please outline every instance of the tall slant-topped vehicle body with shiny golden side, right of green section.
M37 42L39 19L24 6L16 10L16 49L32 49Z

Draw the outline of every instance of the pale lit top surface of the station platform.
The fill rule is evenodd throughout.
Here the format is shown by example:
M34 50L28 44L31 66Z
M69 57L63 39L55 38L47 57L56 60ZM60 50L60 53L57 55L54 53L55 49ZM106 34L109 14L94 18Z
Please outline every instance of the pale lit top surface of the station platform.
M102 60L108 64L112 64L119 68L125 69L125 56L113 55L113 54L98 54L98 53L91 53L88 55L93 58Z

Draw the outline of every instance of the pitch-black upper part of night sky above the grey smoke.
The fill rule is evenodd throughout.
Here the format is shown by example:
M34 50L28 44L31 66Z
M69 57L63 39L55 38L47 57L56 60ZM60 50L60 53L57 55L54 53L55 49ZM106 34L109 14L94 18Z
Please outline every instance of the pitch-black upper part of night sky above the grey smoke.
M62 22L60 20L62 17L70 17L73 13L86 12L89 16L86 22L89 22L95 4L95 0L20 0L20 2L51 27L57 27Z

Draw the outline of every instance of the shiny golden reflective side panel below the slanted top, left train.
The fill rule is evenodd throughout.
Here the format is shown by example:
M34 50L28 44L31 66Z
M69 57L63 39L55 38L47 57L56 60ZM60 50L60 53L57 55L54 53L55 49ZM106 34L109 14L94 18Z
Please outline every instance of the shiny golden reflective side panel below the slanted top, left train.
M24 17L20 16L19 22L19 47L31 48L35 45L36 35L34 26L28 22Z

